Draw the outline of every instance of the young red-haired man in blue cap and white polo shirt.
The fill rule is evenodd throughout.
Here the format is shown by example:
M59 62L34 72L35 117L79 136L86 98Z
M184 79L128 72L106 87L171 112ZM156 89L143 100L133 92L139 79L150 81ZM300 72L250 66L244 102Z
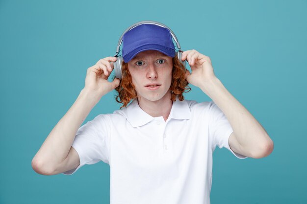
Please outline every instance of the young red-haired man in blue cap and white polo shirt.
M175 56L168 29L153 24L133 29L137 35L128 31L123 38L123 79L107 81L115 57L88 68L84 89L33 158L33 169L71 175L102 160L110 165L111 204L209 204L216 146L240 159L262 158L273 142L215 76L209 57L182 52L190 73ZM155 32L161 34L153 38ZM184 100L188 83L212 101ZM113 89L123 108L80 127Z

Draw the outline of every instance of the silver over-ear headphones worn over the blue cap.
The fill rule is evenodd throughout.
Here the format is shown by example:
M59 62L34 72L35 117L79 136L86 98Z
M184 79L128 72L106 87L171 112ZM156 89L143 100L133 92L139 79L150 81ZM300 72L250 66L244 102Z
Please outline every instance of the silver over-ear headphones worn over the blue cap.
M114 55L114 57L117 58L117 60L113 63L114 65L114 71L115 71L115 77L116 78L119 78L119 79L122 79L122 62L123 62L123 56L119 55L119 48L123 42L123 36L125 35L125 33L127 33L129 30L131 30L132 28L138 26L138 25L141 25L141 24L155 24L155 25L158 25L158 26L161 26L161 27L164 27L166 29L168 29L173 37L173 39L175 40L176 44L177 44L177 48L179 49L178 51L176 51L176 55L179 59L179 62L181 62L185 68L185 61L181 61L181 54L182 54L182 50L180 50L180 44L177 40L177 37L175 35L175 33L169 28L167 27L166 25L162 24L162 23L159 23L159 22L156 22L156 21L141 21L141 22L138 22L138 23L134 23L133 25L131 25L130 27L128 27L124 33L121 35L120 39L118 40L118 44L117 44L117 47L116 47L116 55Z

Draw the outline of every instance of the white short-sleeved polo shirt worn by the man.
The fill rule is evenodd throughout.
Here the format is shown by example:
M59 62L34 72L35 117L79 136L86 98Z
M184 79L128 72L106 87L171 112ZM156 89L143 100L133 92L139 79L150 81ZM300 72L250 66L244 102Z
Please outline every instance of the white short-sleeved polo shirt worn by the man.
M163 108L163 107L161 107ZM213 101L173 103L166 121L145 113L137 100L100 114L79 128L72 146L80 165L110 165L110 204L210 204L212 153L232 128Z

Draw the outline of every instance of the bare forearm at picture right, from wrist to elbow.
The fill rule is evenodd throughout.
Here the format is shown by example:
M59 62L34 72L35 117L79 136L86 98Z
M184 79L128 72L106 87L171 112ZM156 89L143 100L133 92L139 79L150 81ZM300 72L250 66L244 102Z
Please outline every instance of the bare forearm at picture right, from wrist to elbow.
M206 82L201 89L226 115L244 149L256 152L271 140L255 117L230 94L218 78Z

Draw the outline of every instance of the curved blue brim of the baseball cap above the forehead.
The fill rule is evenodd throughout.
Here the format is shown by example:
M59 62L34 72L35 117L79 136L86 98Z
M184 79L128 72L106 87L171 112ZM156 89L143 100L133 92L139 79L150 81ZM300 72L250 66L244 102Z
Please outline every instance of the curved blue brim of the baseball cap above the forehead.
M176 52L175 49L171 49L163 45L157 45L157 44L142 45L142 46L137 47L133 51L129 52L125 56L123 56L124 62L128 63L131 59L133 59L135 55L145 50L157 50L170 57L175 57L175 52Z

